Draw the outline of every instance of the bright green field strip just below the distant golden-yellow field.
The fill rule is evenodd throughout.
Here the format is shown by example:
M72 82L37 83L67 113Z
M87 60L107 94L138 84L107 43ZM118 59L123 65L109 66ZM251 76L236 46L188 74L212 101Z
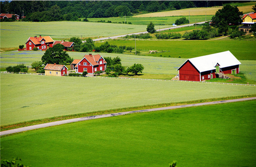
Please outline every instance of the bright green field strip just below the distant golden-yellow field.
M137 17L126 17L126 22L132 22L135 25L148 25L153 22L154 25L172 25L179 18L186 17L189 19L190 23L203 22L211 20L213 15L201 15L201 16L171 16L171 17L148 17L148 18L137 18ZM90 22L97 22L100 20L111 21L111 22L124 22L124 17L120 18L88 18ZM158 26L155 28L159 28Z

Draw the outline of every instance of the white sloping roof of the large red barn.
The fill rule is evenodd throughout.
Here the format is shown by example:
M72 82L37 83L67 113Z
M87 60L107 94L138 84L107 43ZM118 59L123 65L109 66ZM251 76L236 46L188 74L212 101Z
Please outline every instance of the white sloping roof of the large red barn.
M215 66L217 63L220 68L241 64L230 51L223 51L196 58L189 58L177 70L181 69L181 67L188 61L191 62L200 73L216 69Z

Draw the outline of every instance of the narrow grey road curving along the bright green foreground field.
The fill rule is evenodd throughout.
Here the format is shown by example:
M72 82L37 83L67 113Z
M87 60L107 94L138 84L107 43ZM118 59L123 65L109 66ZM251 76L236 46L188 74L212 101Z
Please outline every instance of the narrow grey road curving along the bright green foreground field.
M240 102L240 101L253 100L253 99L256 99L256 97L238 98L238 99L223 100L223 101L216 101L216 102L204 102L204 103L196 103L196 104L189 104L189 105L176 105L176 106L171 106L171 107L143 109L143 110L136 110L136 111L121 112L121 113L104 114L104 115L98 115L98 116L87 116L87 117L81 117L81 118L74 118L74 119L70 119L70 120L60 120L60 121L56 121L56 122L42 123L42 124L38 124L38 125L32 125L29 127L21 127L21 128L17 128L17 129L12 129L12 130L8 130L8 131L1 131L0 136L6 135L6 134L23 132L23 131L29 131L29 130L43 128L43 127L51 127L51 126L55 126L55 125L65 124L65 123L73 123L73 122L79 122L79 121L84 121L84 120L93 120L93 119L106 118L106 117L111 117L111 116L121 116L121 115L126 115L126 114L131 114L131 113L144 113L144 112L159 111L159 110L166 110L166 109L178 109L178 108L200 106L200 105L212 105L212 104L220 104L220 103L228 103L228 102Z

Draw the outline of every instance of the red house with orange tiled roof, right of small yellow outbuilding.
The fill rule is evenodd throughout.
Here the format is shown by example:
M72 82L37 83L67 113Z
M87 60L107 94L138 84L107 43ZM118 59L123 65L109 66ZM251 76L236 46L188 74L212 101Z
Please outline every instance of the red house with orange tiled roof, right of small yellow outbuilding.
M75 69L75 73L95 73L96 71L105 71L107 62L99 55L85 55L82 60L75 59L71 63L71 69Z

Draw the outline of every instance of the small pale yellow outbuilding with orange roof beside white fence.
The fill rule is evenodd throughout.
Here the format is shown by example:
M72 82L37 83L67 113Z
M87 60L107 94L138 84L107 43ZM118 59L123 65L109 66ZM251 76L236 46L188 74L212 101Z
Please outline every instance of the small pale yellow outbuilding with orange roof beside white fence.
M46 76L64 76L64 74L68 73L68 68L65 65L56 63L45 65L44 70Z

